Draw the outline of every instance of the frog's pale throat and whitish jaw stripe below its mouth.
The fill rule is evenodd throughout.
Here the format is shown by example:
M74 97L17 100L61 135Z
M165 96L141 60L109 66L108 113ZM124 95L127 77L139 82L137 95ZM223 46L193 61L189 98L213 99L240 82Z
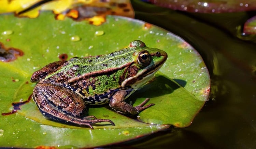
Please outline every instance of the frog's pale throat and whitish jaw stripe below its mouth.
M122 82L121 87L124 88L129 83L129 81L136 79L137 81L131 86L133 89L138 89L139 87L141 87L148 81L152 80L155 76L154 74L161 68L161 66L162 66L162 64L160 64L156 69L154 69L153 71L150 71L150 72L147 72L148 71L147 69L140 71L137 75L125 79ZM147 72L147 73L144 74L145 72ZM140 78L140 76L142 76L142 75L144 75L144 77Z

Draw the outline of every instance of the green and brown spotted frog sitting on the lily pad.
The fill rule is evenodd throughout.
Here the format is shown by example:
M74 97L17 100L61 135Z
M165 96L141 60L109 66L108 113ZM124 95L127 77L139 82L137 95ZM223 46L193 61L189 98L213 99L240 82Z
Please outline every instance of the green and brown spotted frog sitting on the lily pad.
M110 119L86 116L88 106L109 104L127 116L154 106L146 105L150 98L135 107L126 99L154 79L167 57L165 51L134 40L110 54L55 61L32 74L30 81L36 83L32 99L49 120L91 129L101 122L115 126Z

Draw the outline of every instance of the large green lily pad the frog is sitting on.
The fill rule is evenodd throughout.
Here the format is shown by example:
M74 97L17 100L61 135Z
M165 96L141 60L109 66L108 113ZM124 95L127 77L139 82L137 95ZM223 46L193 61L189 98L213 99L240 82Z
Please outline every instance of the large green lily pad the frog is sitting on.
M110 53L125 48L132 40L142 40L148 47L168 53L155 80L130 97L134 106L146 97L151 98L148 103L156 104L142 111L138 119L118 114L107 105L94 107L89 115L111 119L116 126L100 123L91 130L44 119L30 100L19 106L17 113L0 117L2 147L92 148L124 142L169 125L189 126L208 98L210 77L200 55L180 37L157 26L118 16L108 16L105 23L94 26L69 18L57 21L51 12L43 12L36 19L2 15L0 22L0 33L10 33L0 35L4 48L24 53L16 60L0 62L1 113L14 110L14 102L29 100L35 85L29 80L34 71L66 56L69 59Z

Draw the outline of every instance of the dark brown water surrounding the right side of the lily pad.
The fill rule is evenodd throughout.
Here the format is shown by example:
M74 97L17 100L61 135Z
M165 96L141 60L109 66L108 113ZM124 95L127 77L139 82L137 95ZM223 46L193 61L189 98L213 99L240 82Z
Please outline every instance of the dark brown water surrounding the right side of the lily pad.
M182 37L201 54L212 93L189 127L112 147L256 148L256 38L237 30L256 12L195 14L138 0L132 5L136 19Z

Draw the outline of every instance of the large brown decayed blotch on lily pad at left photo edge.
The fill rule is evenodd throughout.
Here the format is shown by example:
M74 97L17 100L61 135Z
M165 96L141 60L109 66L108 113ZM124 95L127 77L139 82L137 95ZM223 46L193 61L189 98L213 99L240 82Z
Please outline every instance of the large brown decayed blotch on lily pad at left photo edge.
M23 56L24 53L15 48L5 48L3 43L0 42L0 61L10 62L17 59L18 56Z

